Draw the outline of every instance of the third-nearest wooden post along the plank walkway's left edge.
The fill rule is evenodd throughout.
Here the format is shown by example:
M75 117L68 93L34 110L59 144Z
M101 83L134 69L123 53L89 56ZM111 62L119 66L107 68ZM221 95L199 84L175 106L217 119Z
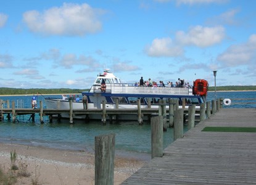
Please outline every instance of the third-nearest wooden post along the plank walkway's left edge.
M175 110L173 121L173 137L174 140L183 138L183 109Z

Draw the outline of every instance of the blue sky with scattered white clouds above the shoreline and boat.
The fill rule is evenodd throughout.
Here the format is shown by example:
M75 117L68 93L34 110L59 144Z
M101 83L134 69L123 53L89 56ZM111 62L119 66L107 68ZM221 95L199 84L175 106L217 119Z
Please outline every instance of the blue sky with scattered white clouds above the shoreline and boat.
M256 1L0 2L0 87L89 88L197 78L256 85Z

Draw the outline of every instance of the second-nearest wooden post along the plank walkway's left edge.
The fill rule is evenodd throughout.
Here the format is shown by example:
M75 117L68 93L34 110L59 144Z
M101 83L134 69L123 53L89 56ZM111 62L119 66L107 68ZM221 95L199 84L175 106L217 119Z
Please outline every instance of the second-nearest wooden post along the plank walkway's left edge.
M151 118L151 158L163 156L163 116Z

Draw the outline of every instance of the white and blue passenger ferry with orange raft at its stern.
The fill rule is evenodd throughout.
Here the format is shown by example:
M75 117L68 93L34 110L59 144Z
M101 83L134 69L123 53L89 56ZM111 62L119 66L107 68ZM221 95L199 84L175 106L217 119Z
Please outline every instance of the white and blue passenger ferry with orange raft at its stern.
M192 104L199 106L205 102L207 89L208 82L203 79L195 80L192 87L168 85L163 87L159 84L138 86L138 84L122 83L120 78L106 69L97 75L89 91L82 92L81 95L87 99L87 109L102 109L102 101L105 101L106 109L115 109L116 102L118 102L118 109L138 109L138 99L141 108L147 108L148 101L150 101L151 108L158 108L160 99L166 101L178 99L180 106L182 99L185 99L186 107L188 107ZM68 99L45 98L45 101L48 109L70 109ZM84 109L83 102L73 101L73 109Z

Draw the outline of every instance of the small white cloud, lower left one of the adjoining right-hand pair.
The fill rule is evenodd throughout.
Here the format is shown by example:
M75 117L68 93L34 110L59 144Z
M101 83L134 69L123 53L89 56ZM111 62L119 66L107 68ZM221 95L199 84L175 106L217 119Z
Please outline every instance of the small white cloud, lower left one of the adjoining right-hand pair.
M175 46L171 38L156 38L151 46L147 46L146 53L152 57L176 57L183 54L183 49Z

